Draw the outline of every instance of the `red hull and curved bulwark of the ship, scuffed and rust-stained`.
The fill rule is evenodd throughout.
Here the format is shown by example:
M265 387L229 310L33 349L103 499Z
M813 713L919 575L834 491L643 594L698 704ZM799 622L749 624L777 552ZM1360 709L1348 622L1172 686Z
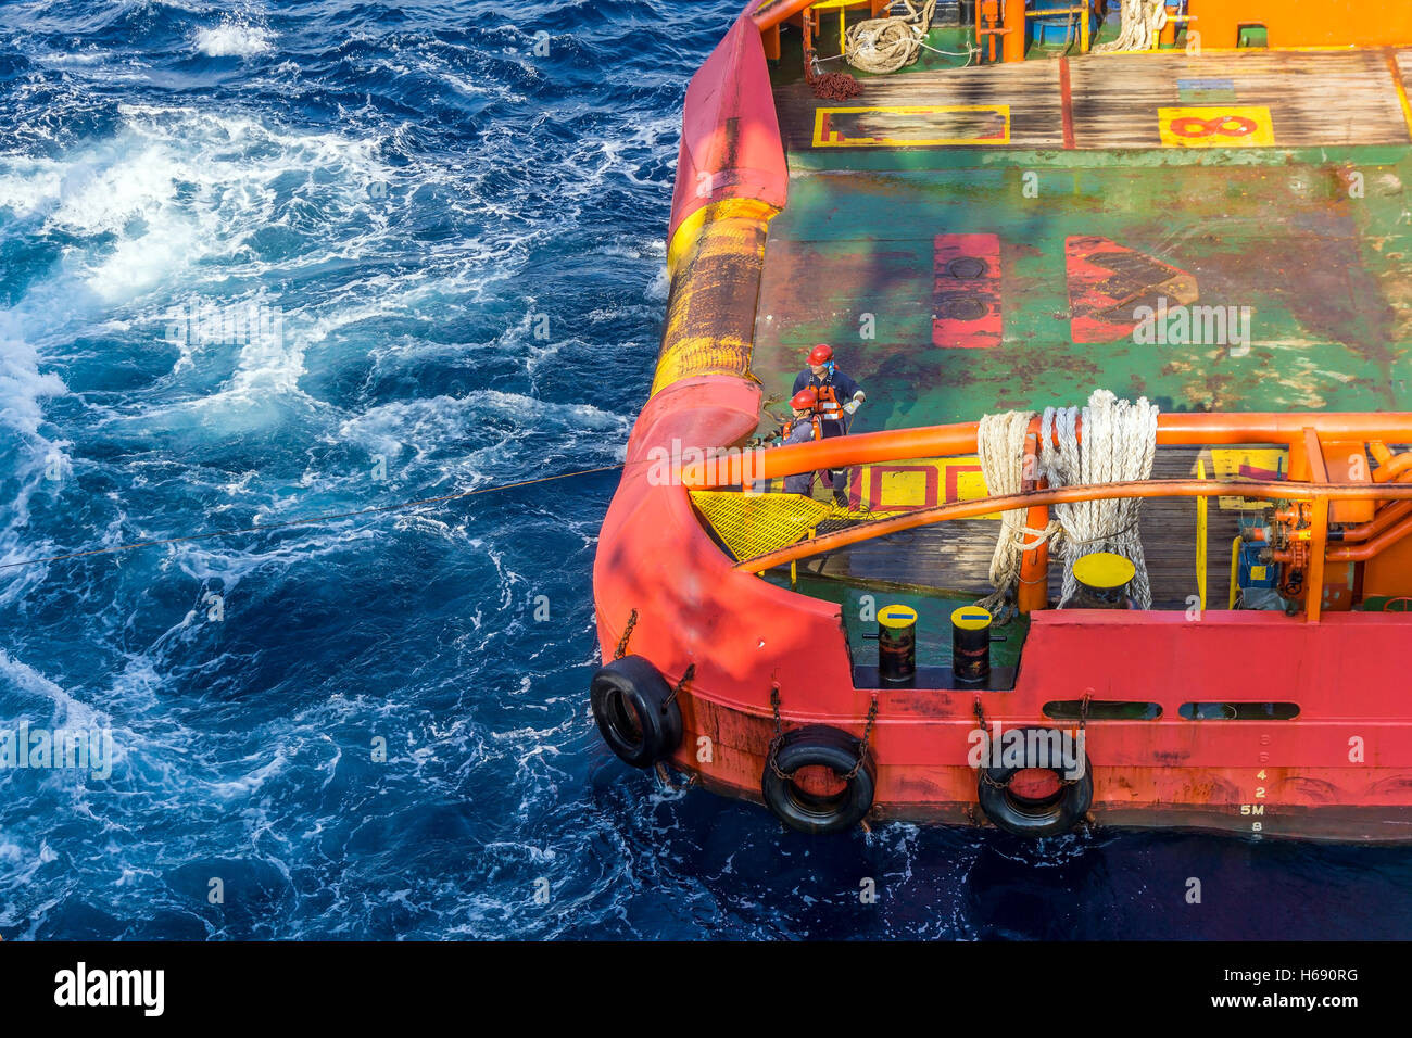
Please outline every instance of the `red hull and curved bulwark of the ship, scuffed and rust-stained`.
M722 316L710 299L727 290L738 295L741 285L748 291L751 278L758 284L760 250L713 257L709 241L698 244L709 239L713 206L733 199L774 209L785 203L764 51L747 17L693 80L683 124L662 367L634 428L594 568L606 658L635 610L628 652L651 661L669 682L695 667L678 699L685 729L672 757L678 768L705 788L760 801L775 733L772 689L784 727L822 723L858 736L875 696L871 816L983 825L977 770L967 761L977 709L986 724L1072 729L1048 720L1045 703L1087 695L1161 706L1156 720L1087 722L1096 823L1412 839L1404 681L1412 617L1405 614L1326 613L1309 623L1281 613L1189 619L1041 610L1014 691L854 688L840 609L736 569L703 530L686 489L648 479L654 449L669 452L674 441L734 445L758 422L761 390L747 374L753 304ZM700 222L703 210L706 230L693 230L689 217ZM761 236L767 219L758 220ZM688 369L664 381L662 371L679 364L693 335L717 345L738 340L744 367L731 373L713 354L714 366L696 369L710 373ZM1230 700L1293 702L1299 715L1228 722L1182 716L1185 703Z

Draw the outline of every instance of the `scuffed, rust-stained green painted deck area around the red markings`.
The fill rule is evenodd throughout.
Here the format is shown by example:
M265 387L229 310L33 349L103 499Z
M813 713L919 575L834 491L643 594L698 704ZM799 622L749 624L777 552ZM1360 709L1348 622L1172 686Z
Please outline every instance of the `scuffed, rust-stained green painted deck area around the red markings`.
M1113 151L1107 162L1077 165L990 151L950 168L796 169L767 243L755 376L767 395L782 395L808 347L833 343L868 393L857 431L1076 404L1099 387L1145 394L1168 411L1404 407L1412 154L1258 154L1156 164L1147 151ZM1363 177L1361 199L1348 196L1350 171ZM1035 198L1025 195L1027 172ZM1004 342L936 349L933 236L967 232L1001 237ZM1197 305L1248 308L1251 342L1075 343L1065 240L1079 234L1190 271ZM871 340L860 338L868 323Z

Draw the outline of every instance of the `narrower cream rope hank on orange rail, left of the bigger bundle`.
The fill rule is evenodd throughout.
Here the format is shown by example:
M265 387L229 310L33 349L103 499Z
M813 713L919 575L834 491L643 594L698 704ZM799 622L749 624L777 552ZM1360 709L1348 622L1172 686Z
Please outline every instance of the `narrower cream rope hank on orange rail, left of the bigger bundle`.
M1004 411L980 419L976 446L987 493L1018 494L1024 489L1025 435L1034 417L1034 411ZM1036 473L1028 475L1031 479L1036 476ZM990 610L1000 623L1008 620L1015 609L1024 554L1038 548L1059 530L1055 521L1045 530L1032 530L1027 518L1024 508L1011 508L1000 514L1000 538L990 559L990 583L995 590L976 603Z

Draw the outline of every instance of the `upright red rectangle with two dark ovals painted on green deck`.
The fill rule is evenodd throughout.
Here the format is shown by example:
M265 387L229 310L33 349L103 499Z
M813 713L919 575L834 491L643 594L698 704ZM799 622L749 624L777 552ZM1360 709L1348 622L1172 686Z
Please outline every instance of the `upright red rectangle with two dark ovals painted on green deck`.
M1000 346L1000 236L938 234L932 345L942 349Z

